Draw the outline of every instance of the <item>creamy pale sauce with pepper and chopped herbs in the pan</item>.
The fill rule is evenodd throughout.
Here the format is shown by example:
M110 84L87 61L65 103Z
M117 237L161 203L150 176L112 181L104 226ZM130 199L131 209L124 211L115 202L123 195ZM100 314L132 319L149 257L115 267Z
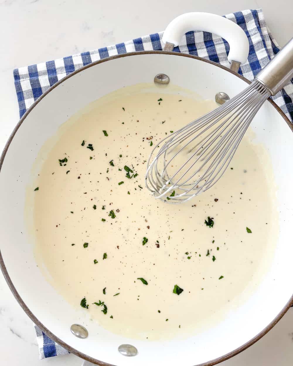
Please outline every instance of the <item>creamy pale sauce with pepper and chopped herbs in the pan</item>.
M45 157L34 192L38 264L71 306L138 339L195 333L224 320L260 283L277 235L270 162L248 137L211 190L181 205L151 196L144 186L150 142L216 107L167 90L140 85L101 98L71 117L38 157ZM138 175L127 178L125 165ZM174 294L174 285L184 291ZM80 307L84 297L89 309ZM93 304L99 300L106 314Z

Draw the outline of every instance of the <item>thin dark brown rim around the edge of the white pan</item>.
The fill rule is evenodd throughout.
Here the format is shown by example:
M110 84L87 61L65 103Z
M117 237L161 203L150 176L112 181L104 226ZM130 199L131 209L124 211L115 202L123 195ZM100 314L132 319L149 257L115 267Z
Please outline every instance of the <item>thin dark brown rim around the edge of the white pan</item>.
M22 118L19 120L18 124L16 125L16 127L14 128L14 130L12 131L10 137L8 138L8 141L3 149L3 152L1 154L0 157L0 173L1 173L1 168L3 165L3 161L4 158L6 156L7 150L10 146L10 143L12 141L12 139L14 138L18 128L21 126L21 124L25 121L26 117L29 115L29 113L34 109L34 107L48 94L50 93L50 91L52 91L53 89L55 89L57 86L59 86L60 84L62 84L65 80L67 80L68 78L71 78L71 76L74 76L84 70L86 70L89 67L93 67L95 65L98 65L100 63L106 62L108 60L114 60L114 59L119 59L121 57L128 57L128 56L137 56L137 55L172 55L172 56L180 56L180 57L189 57L191 59L196 59L196 60L200 60L209 64L214 65L215 67L219 67L222 68L223 70L230 72L231 74L234 74L235 76L237 76L238 78L240 78L241 80L245 81L246 83L250 84L251 82L248 81L247 79L245 79L243 76L237 74L236 72L233 72L231 70L229 70L228 68L217 64L213 61L210 60L206 60L206 59L202 59L201 57L198 56L192 56L192 55L188 55L186 53L179 53L179 52L165 52L165 51L142 51L142 52L129 52L129 53L124 53L122 55L116 55L116 56L111 56L108 57L106 59L103 60L99 60L99 61L95 61L89 65L83 66L81 68L79 68L78 70L72 72L71 74L65 76L64 78L62 78L60 81L58 81L56 84L52 85L47 91L45 91L44 94L41 95L40 98L38 98L33 105L31 105L30 108L27 109L27 111L25 112L25 114L22 116ZM285 120L285 122L288 124L288 126L290 127L290 129L293 132L293 125L292 123L289 121L289 119L286 117L286 115L282 112L281 108L279 108L277 106L277 104L275 104L271 99L268 99L268 101L271 103L271 105L279 112L279 114L282 116L282 118ZM89 362L92 362L96 365L100 365L100 366L114 366L110 363L106 363L103 361L99 361L97 359L91 358L90 356L87 356L85 354L83 354L82 352L79 352L78 350L76 350L75 348L72 348L71 346L69 346L67 343L63 342L61 339L59 339L58 337L56 337L52 332L50 332L49 329L47 329L38 319L37 317L35 317L35 315L30 311L30 309L27 307L27 305L25 304L25 302L22 300L22 298L20 297L20 295L18 294L16 288L14 287L14 284L12 283L10 276L8 274L7 268L5 267L4 264L4 260L3 257L1 255L1 251L0 251L0 267L3 273L3 276L12 292L12 294L14 295L15 299L18 301L19 305L22 307L22 309L26 312L26 314L31 318L31 320L39 327L42 329L42 331L44 333L46 333L46 335L48 335L53 341L55 341L56 343L60 344L60 346L66 348L69 352L75 354L76 356L83 358ZM217 363L223 362L226 359L233 357L235 355L237 355L238 353L244 351L246 348L250 347L253 343L255 343L256 341L258 341L260 338L262 338L269 330L271 330L273 328L273 326L275 324L277 324L277 322L283 317L283 315L286 313L286 311L292 306L293 304L293 295L290 297L290 299L288 300L288 302L286 303L286 305L283 307L283 309L279 312L279 314L274 318L273 321L270 322L270 324L268 324L260 333L258 333L258 335L256 335L255 337L253 337L251 340L249 340L247 343L243 344L242 346L236 348L234 351L231 351L219 358L213 359L211 361L208 362L204 362L201 363L199 365L196 366L212 366L215 365Z

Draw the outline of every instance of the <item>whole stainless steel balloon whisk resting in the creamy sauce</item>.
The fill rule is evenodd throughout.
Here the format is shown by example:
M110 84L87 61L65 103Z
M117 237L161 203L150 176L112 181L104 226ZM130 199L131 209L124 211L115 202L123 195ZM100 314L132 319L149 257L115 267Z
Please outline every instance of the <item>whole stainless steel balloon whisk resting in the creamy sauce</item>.
M168 203L188 201L212 187L259 108L292 77L293 38L241 93L154 146L146 187Z

